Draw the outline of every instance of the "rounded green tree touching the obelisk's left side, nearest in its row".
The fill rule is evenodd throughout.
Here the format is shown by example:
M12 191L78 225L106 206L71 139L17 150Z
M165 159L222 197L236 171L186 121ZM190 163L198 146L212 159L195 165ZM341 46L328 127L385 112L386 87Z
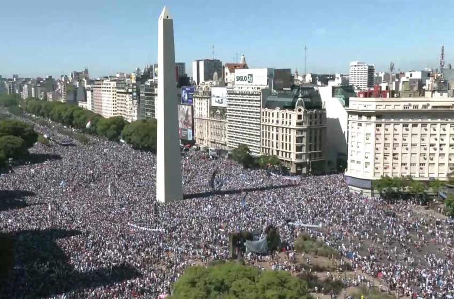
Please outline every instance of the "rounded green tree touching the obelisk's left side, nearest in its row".
M134 149L156 152L156 119L138 120L127 124L121 132L121 138Z

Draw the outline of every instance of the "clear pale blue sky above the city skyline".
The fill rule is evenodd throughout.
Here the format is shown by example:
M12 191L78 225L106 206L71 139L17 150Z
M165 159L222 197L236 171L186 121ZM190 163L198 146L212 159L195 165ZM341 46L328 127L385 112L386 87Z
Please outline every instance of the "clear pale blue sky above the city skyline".
M353 60L386 70L454 64L454 1L22 0L1 1L0 74L36 77L88 67L92 77L157 60L158 16L174 19L176 60L214 56L249 67L348 72Z

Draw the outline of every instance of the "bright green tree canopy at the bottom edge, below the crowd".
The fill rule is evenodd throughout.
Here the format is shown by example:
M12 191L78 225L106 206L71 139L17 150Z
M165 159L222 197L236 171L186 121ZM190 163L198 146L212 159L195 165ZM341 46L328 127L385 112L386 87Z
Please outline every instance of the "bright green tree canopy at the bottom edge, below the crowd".
M171 298L305 299L310 295L306 282L287 271L261 272L255 267L226 262L188 268L173 285Z

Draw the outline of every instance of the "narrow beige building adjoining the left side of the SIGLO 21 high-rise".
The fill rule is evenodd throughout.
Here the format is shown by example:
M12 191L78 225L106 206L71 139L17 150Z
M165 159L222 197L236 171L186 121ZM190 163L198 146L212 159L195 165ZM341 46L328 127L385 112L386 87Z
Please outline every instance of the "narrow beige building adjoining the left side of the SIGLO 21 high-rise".
M216 83L202 82L194 92L194 138L201 147L227 150L227 108L224 107L227 103L216 101L216 95L220 94L222 97L222 93L227 93L227 89L214 84Z

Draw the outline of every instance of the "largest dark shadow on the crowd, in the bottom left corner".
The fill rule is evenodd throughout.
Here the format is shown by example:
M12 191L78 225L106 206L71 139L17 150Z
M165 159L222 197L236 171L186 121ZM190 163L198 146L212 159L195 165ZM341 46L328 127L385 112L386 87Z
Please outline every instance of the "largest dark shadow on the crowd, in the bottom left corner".
M5 263L10 265L10 270L4 284L0 285L0 298L52 297L140 276L129 265L115 265L90 272L74 269L55 241L80 234L79 230L61 229L22 230L4 234L4 238L12 240L14 257L9 258L14 262Z

